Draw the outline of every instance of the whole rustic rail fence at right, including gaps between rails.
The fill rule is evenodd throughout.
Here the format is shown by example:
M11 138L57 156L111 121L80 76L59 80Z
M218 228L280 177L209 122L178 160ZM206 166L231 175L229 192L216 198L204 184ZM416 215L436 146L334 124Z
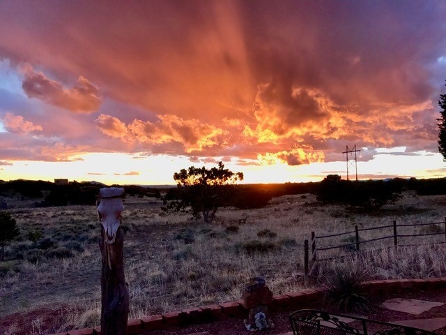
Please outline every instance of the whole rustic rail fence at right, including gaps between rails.
M316 235L304 241L305 283L317 262L398 246L446 243L446 218L441 222L380 225L348 232Z

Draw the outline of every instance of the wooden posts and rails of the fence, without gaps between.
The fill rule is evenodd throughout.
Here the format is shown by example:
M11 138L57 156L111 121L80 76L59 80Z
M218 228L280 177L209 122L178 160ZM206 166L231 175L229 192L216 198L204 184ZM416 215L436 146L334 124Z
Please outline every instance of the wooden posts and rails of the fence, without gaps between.
M438 226L443 226L443 229L438 228ZM426 226L436 226L436 229L438 231L433 232L414 232L414 233L408 233L408 232L400 232L399 228L409 228L409 227L426 227ZM392 228L392 234L387 234L384 236L376 236L371 237L369 239L361 239L360 233L361 232L369 232L371 230L380 230L382 232L385 232L387 228ZM441 231L439 231L441 230ZM344 244L335 244L330 245L328 242L328 245L323 245L323 241L327 239L332 239L333 237L341 237L345 235L350 235L350 237L353 237L353 241L350 241L350 243L344 243ZM433 222L433 223L406 223L406 224L399 224L397 225L397 221L394 220L392 225L380 225L378 227L369 227L369 228L358 228L357 225L355 225L355 230L351 230L348 232L339 232L336 234L325 234L316 236L315 232L312 232L312 237L310 240L305 239L304 241L304 274L305 274L305 284L309 283L309 279L312 276L312 272L314 270L314 267L318 261L323 260L333 260L336 258L344 258L346 255L351 255L353 253L358 253L359 251L362 251L361 245L362 244L370 244L371 242L376 241L383 241L386 239L393 239L393 244L391 246L397 247L397 246L412 246L413 244L399 244L402 238L408 238L408 237L428 237L428 236L434 236L434 235L443 235L444 239L442 241L436 241L436 242L430 242L430 244L436 244L436 243L445 243L446 242L446 217L444 221L441 222ZM399 239L401 238L401 239ZM348 241L346 239L345 241ZM318 246L319 244L322 244L322 246ZM379 250L382 248L389 248L390 246L381 246L378 249L367 249L367 251L374 251ZM318 257L321 252L323 251L333 251L334 249L338 249L340 253L338 255L329 255L325 257ZM348 251L348 254L346 253Z

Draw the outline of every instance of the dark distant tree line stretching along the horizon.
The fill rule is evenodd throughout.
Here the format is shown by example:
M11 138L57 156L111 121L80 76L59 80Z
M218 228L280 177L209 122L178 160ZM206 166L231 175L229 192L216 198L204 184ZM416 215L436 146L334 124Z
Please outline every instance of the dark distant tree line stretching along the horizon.
M220 169L223 169L223 167ZM183 175L183 177L187 176L187 170L185 171L186 175ZM218 172L218 169L216 171ZM177 177L180 178L180 176L178 174ZM215 191L221 188L223 192L217 198L215 198L216 195L208 196L210 193L203 193L203 189L200 188L201 186L196 185L193 188L187 188L187 184L182 184L181 186L176 188L150 188L137 185L123 187L126 195L137 196L139 198L163 198L166 204L170 204L171 209L174 209L175 206L179 206L178 209L180 207L183 207L183 209L187 206L190 207L190 200L197 197L196 191L198 190L200 190L200 196L203 195L203 199L206 199L208 202L217 199L217 207L233 206L238 209L261 208L265 207L272 198L282 195L305 193L316 194L318 201L321 202L339 202L369 209L378 209L383 204L397 200L404 190L415 191L417 195L446 194L446 178L394 178L385 180L347 181L341 179L341 176L338 174L329 174L323 181L319 182L219 184L213 186L213 188L206 188L207 191L212 189ZM66 206L68 204L94 205L101 187L105 187L105 185L76 181L72 181L68 185L56 185L49 181L29 181L24 179L14 181L0 180L0 195L3 197L18 196L22 199L36 200L35 204L39 207ZM191 192L192 189L194 192ZM164 194L164 197L161 196L161 193ZM0 202L0 209L6 209L6 204Z

